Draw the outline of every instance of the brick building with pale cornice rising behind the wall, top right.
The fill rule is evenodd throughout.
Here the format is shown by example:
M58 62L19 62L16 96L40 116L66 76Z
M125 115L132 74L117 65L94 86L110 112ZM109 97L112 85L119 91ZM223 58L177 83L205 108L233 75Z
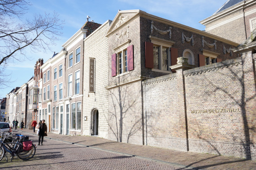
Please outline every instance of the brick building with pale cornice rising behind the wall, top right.
M212 16L200 23L208 33L243 43L256 28L256 1L227 0Z

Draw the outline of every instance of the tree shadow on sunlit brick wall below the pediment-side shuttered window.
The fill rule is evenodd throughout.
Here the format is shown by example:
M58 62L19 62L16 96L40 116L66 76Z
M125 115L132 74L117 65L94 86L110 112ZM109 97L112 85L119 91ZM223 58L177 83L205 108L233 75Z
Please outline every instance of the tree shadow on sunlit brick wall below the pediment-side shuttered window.
M139 131L143 132L143 115L135 104L140 102L141 90L131 96L126 85L108 91L113 110L108 110L108 127L118 142L127 142ZM127 136L124 139L123 136Z

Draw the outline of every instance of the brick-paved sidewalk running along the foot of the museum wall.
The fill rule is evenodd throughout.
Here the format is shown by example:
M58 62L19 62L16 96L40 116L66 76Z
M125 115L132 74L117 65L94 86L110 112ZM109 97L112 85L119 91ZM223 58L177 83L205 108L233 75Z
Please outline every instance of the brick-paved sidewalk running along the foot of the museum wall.
M30 135L36 135L33 130L23 129ZM15 132L13 133L15 134ZM60 140L72 144L85 145L90 148L135 156L153 161L160 161L181 169L205 170L256 170L256 161L237 157L227 157L208 153L182 152L173 149L163 149L146 145L120 143L94 136L65 136L47 133L45 139Z

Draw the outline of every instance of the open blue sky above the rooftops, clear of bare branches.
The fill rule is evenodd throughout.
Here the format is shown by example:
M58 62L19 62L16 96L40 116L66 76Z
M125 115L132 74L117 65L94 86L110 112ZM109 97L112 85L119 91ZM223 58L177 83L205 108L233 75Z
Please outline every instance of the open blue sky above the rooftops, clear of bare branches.
M64 44L87 21L87 15L96 23L103 24L113 20L118 10L139 9L157 17L178 22L198 30L205 30L199 21L210 17L226 0L31 0L24 18L30 19L33 14L59 14L64 21L62 36L56 41L52 50L30 51L26 49L26 60L9 63L5 74L9 75L8 87L0 87L0 99L15 87L20 87L30 80L34 74L34 66L40 58L46 62L54 51L61 51Z

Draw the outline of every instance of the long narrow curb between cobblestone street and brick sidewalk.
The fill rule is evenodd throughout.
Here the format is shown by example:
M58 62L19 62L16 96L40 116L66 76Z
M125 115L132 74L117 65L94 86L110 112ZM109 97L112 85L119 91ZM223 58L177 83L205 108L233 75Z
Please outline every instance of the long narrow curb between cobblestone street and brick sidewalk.
M18 131L24 132L22 130L18 130ZM27 134L30 134L30 135L33 135L33 136L37 136L37 135L35 135L33 133L29 133L29 132L24 132L24 133L27 133ZM69 142L69 141L65 141L65 140L55 139L55 138L51 138L51 137L47 137L47 136L45 136L44 138L50 139L50 140L56 140L56 141L60 141L60 142L68 143L68 144L75 144L75 145L78 145L78 146L87 147L87 148L91 148L91 149L97 149L97 150L105 151L105 152L109 152L109 153L116 153L116 154L120 154L120 155L125 155L125 156L128 156L128 157L137 157L137 158L145 159L145 160L148 160L148 161L156 161L156 162L168 164L168 165L171 165L171 166L178 166L179 168L182 168L183 170L184 170L184 168L185 169L188 168L188 169L191 169L191 170L204 170L204 169L199 169L199 168L195 168L195 167L191 167L191 166L184 166L184 165L181 165L181 164L178 164L178 163L172 163L172 162L169 162L169 161L162 161L162 160L159 160L159 159L153 159L153 158L149 158L149 157L142 157L142 156L138 156L138 155L131 155L129 153L122 153L122 152L117 152L117 151L113 151L113 150L97 148L95 146L88 146L88 145L85 145L85 144L76 144L74 142Z

